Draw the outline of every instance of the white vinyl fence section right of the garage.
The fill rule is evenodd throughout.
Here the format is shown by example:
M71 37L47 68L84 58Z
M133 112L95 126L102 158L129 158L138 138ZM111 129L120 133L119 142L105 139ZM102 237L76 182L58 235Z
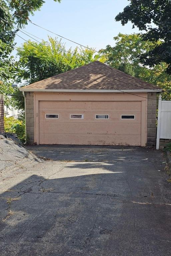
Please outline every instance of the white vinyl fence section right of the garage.
M156 149L160 139L171 139L171 101L161 100L159 96Z

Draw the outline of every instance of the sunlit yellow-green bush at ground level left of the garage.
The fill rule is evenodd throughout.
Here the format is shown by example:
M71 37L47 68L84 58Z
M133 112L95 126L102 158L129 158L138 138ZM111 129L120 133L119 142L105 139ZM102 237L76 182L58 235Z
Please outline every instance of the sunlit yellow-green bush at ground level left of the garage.
M5 132L15 133L18 138L24 142L26 139L25 135L25 123L22 120L16 119L13 116L4 117L4 129Z

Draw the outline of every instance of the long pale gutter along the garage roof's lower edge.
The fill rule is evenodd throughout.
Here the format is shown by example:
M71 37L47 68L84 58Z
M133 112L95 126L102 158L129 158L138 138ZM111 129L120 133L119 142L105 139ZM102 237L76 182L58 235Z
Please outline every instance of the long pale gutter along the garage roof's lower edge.
M162 89L137 89L137 90L69 90L69 89L33 89L33 88L20 88L23 92L162 92Z

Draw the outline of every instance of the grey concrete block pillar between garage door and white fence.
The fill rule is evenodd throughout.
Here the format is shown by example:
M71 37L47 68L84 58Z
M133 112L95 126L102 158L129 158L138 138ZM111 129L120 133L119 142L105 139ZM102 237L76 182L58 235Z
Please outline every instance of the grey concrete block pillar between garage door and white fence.
M156 109L157 109L157 93L148 93L147 105L147 146L156 145Z

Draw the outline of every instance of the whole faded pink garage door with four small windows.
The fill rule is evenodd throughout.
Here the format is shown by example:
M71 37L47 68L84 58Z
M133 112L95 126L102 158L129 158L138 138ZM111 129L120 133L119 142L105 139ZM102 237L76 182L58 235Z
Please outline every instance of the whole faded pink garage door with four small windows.
M58 114L59 118L45 118ZM83 114L84 119L70 119ZM95 119L95 115L109 119ZM121 119L135 115L135 119ZM78 145L141 145L141 101L40 101L39 143Z

